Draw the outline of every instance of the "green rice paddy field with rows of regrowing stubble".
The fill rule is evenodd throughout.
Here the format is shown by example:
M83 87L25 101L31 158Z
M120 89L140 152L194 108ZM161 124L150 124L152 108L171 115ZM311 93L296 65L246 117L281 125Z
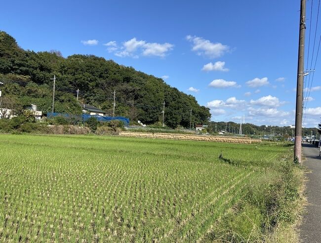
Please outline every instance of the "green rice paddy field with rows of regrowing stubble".
M289 148L0 134L0 151L0 242L201 242Z

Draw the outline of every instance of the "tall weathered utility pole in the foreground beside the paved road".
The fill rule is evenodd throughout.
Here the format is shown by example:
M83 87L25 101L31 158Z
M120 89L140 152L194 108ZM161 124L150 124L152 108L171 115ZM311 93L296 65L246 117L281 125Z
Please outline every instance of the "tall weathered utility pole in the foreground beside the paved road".
M301 163L301 140L302 140L302 111L303 111L303 79L304 79L304 40L305 40L305 11L306 0L301 0L300 28L299 28L299 51L298 71L296 82L296 109L295 109L295 140L294 160Z

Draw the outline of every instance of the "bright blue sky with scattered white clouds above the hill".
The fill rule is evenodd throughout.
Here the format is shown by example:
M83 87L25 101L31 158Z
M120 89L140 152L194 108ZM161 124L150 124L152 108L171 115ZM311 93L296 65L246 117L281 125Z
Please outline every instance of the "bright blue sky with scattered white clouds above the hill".
M294 124L300 0L10 0L1 8L0 30L24 49L94 54L162 77L209 107L212 121ZM310 10L308 1L308 18ZM321 117L320 58L308 127Z

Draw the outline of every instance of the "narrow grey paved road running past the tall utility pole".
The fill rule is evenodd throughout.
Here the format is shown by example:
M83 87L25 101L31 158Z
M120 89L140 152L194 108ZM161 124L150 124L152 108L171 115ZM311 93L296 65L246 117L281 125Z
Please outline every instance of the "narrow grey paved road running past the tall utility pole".
M304 144L303 155L311 173L307 174L307 198L309 205L307 213L303 215L300 227L300 238L302 243L321 243L321 157L319 148L314 145Z

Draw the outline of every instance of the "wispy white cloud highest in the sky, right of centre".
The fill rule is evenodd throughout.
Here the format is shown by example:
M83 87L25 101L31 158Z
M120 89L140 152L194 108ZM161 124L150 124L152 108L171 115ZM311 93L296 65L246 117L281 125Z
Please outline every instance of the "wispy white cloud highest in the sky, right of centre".
M209 58L216 58L222 56L225 52L230 50L228 45L222 43L213 43L201 37L187 36L186 40L193 43L192 50L196 51L198 55L203 55Z

